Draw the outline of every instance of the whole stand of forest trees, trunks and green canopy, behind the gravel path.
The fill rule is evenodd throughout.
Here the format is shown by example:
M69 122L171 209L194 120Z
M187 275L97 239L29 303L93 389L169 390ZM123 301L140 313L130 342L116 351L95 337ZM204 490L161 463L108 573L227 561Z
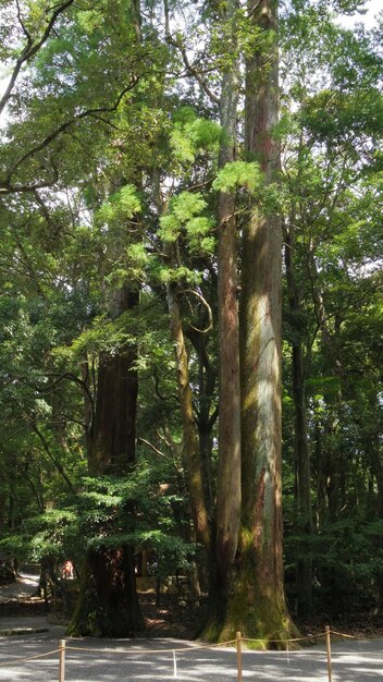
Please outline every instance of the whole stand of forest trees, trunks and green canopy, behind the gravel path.
M212 640L382 619L383 21L338 21L362 11L0 2L0 556L73 561L72 633L141 630L143 552L209 595Z

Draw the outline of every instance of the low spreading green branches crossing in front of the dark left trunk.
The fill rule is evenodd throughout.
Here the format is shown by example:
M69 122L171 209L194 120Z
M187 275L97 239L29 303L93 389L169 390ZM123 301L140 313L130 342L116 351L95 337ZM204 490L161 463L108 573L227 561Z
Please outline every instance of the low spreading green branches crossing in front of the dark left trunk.
M145 460L128 478L84 477L75 498L26 519L17 532L5 534L0 548L24 561L49 556L79 563L87 548L131 545L137 552L153 550L163 571L188 568L195 546L181 539L176 510L185 502L174 486L171 463L158 467Z

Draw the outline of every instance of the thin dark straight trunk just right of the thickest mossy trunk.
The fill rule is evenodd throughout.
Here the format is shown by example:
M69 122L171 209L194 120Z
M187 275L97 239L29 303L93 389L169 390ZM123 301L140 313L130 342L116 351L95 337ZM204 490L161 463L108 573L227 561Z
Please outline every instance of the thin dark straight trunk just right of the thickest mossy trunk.
M285 267L287 279L288 305L292 320L299 319L300 304L294 273L294 217L285 227ZM293 324L293 321L292 321ZM297 614L301 618L312 616L312 508L310 451L307 435L307 412L305 394L304 350L300 330L294 329L292 341L292 385L295 411L295 461L296 496L298 519L298 551L296 559Z

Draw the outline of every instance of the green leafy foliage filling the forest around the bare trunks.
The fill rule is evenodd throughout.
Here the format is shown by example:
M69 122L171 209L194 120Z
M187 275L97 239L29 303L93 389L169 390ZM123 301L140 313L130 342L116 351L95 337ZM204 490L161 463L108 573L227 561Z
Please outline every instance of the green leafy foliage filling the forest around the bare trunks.
M333 16L357 4L294 0L281 8L283 115L273 133L282 148L282 186L265 185L259 165L242 160L243 103L238 160L218 171L220 145L227 142L218 123L222 73L274 41L244 8L227 17L222 3L184 5L171 21L177 24L184 12L189 35L175 26L164 40L155 4L143 9L138 36L134 3L73 3L18 74L0 131L2 548L59 561L81 559L88 547L127 543L155 550L163 571L188 565L195 547L182 539L190 537L189 509L166 285L178 295L213 499L217 204L218 192L230 192L239 243L249 205L282 214L292 238L296 292L285 282L283 344L288 567L299 552L312 555L323 608L334 595L345 602L366 590L376 605L381 27L375 36L350 32ZM27 34L33 44L41 38L57 4L33 0L18 8L17 19L17 3L1 2L0 57L8 73ZM237 263L240 269L240 248ZM110 302L126 289L139 290L139 304L114 316ZM208 326L208 334L197 331ZM88 478L99 358L123 349L135 351L132 369L139 374L139 466L122 478ZM296 533L302 525L293 428L297 350L316 519L309 539Z

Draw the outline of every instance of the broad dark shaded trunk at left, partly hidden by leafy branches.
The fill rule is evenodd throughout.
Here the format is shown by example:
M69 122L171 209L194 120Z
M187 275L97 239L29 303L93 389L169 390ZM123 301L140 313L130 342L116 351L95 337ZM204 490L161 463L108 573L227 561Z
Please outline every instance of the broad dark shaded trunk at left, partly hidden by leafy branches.
M138 305L138 291L113 292L110 313L118 317ZM138 376L135 348L122 348L99 361L95 421L90 428L89 471L125 476L135 464ZM134 509L126 510L134 514ZM75 636L129 637L144 629L134 572L134 548L89 550L82 570L78 602L67 633Z

